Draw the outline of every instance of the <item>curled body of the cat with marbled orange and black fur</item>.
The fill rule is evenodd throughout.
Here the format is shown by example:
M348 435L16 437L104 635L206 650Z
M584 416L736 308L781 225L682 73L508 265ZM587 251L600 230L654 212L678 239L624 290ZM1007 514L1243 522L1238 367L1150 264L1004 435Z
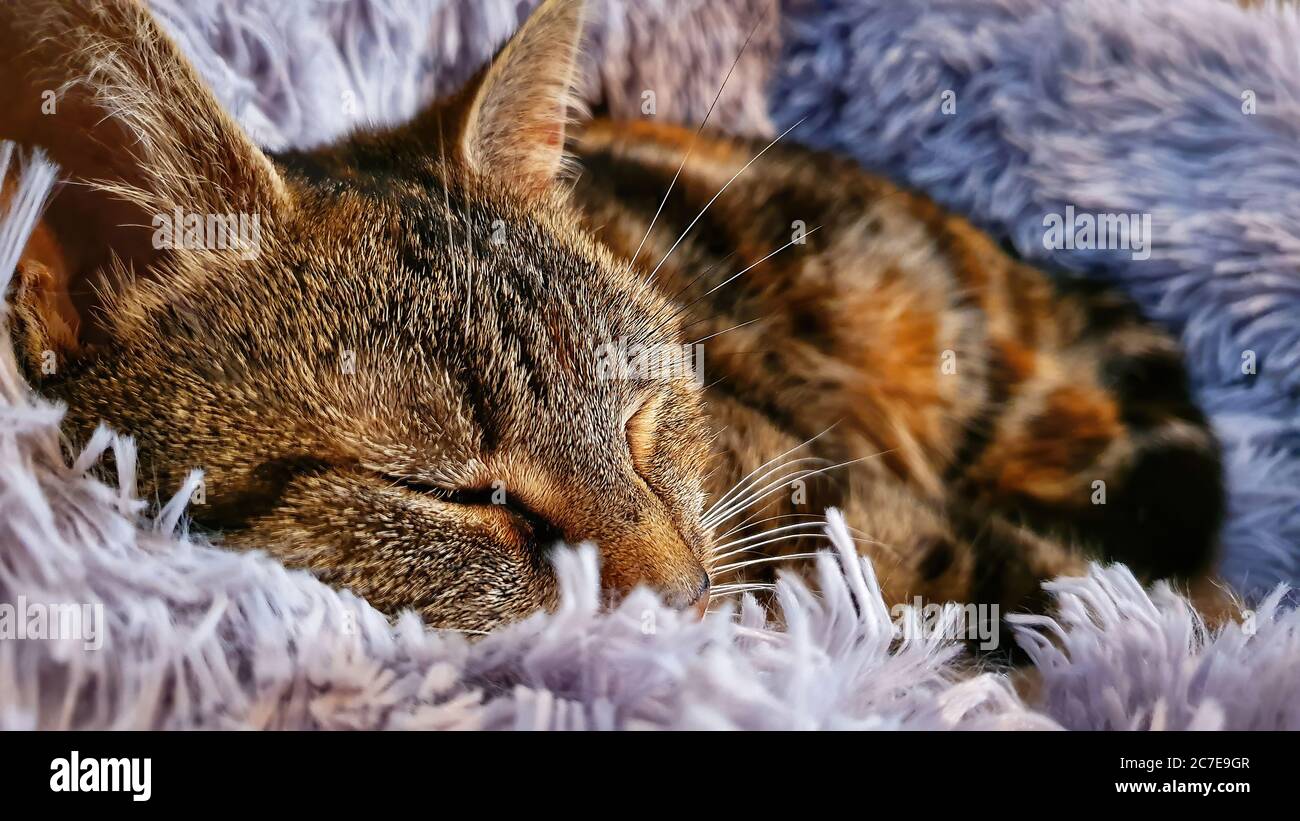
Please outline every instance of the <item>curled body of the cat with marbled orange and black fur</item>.
M1084 557L1206 572L1218 448L1176 344L1121 295L797 145L597 121L575 153L586 226L705 340L710 498L806 460L718 525L841 508L896 600L1015 609Z

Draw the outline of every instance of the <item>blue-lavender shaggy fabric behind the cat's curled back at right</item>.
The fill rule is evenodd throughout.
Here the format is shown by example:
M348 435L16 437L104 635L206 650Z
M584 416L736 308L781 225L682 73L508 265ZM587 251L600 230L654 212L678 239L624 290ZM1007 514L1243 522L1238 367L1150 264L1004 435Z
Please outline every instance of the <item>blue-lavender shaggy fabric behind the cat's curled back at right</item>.
M793 139L1118 283L1178 333L1226 447L1222 573L1252 598L1300 583L1296 8L786 0L785 16L776 126L806 118ZM1045 249L1044 216L1067 205L1152 214L1150 259Z

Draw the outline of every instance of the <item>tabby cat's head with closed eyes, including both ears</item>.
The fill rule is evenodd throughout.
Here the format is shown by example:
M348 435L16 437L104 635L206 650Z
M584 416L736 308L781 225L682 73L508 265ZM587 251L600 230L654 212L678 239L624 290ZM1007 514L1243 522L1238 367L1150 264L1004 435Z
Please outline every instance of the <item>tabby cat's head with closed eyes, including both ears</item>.
M139 4L4 4L0 138L68 179L9 294L30 378L135 438L144 494L202 469L198 525L381 609L550 607L556 542L707 599L699 387L608 366L680 327L564 203L581 14L543 3L406 126L268 156Z

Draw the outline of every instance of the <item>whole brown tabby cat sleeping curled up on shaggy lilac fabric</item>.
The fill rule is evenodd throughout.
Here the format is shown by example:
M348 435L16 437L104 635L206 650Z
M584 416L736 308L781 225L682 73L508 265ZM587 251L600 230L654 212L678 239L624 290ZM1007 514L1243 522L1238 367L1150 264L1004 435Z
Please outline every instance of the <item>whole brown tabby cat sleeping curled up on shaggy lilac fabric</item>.
M1170 339L846 160L571 126L581 16L268 156L140 5L0 6L0 138L70 179L9 330L70 435L133 435L159 498L202 468L222 543L441 627L555 604L556 542L702 609L828 507L890 600L1032 609L1089 552L1205 574L1218 449Z

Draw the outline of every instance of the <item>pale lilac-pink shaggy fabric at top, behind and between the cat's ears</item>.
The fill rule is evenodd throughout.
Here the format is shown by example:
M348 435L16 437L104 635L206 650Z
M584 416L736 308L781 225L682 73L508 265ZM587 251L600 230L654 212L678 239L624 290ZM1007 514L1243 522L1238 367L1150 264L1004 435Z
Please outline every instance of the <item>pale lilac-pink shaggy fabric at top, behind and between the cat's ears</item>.
M222 104L264 147L309 147L407 120L458 90L537 0L152 0ZM589 0L582 97L616 117L771 133L776 0Z

